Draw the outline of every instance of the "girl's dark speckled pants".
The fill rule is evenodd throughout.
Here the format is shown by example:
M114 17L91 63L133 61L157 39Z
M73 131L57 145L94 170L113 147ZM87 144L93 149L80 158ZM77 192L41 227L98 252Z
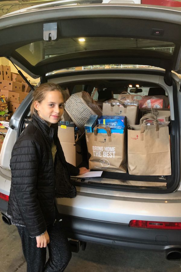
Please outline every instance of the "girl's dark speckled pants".
M71 259L68 239L62 229L62 223L56 222L47 227L50 243L49 259L46 262L46 248L37 248L36 238L31 238L26 227L17 226L21 237L23 254L27 262L27 272L64 271Z

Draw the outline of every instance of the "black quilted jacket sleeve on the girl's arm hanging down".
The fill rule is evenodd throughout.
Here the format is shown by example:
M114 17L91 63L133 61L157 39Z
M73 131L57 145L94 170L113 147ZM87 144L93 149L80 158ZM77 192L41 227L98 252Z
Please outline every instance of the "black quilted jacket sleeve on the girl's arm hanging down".
M14 145L10 161L14 198L31 237L46 231L36 189L40 149L36 141L21 138Z

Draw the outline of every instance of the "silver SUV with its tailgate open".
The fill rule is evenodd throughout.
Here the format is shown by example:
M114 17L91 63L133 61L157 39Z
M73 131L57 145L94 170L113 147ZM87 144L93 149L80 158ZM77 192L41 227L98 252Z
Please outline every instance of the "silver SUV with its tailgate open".
M69 238L181 258L180 33L180 10L143 5L41 5L0 17L1 56L41 83L58 83L71 94L110 88L115 98L138 84L144 95L150 88L159 95L159 88L169 98L172 174L72 177L77 197L56 199ZM24 129L32 93L12 116L0 154L0 211L7 223L11 151ZM82 148L86 166L86 145Z

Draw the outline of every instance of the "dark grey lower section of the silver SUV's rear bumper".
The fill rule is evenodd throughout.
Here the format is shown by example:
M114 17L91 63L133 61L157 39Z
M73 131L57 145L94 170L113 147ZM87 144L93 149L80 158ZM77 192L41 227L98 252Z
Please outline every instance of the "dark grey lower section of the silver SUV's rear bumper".
M165 251L181 248L181 231L130 228L127 224L101 222L60 215L68 238L110 246Z

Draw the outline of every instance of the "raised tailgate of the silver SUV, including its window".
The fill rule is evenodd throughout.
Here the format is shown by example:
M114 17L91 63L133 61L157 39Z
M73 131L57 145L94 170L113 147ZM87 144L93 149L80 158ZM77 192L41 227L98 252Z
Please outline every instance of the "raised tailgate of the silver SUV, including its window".
M47 26L50 40L44 40ZM31 7L0 17L0 54L33 77L106 63L179 72L180 33L179 9L124 4ZM81 37L84 43L78 41Z

